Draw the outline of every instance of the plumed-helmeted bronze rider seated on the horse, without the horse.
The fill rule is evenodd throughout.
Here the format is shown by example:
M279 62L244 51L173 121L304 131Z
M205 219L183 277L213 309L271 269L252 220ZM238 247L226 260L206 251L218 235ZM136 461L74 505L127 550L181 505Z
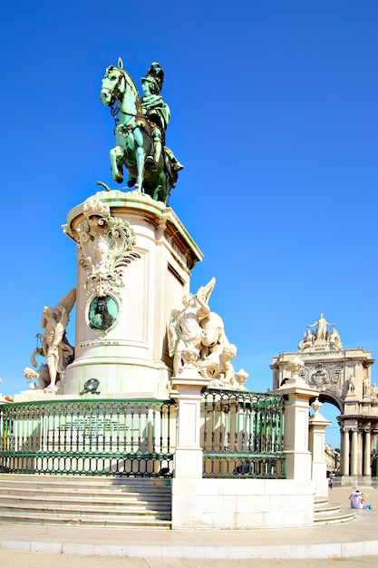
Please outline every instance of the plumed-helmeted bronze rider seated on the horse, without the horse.
M147 156L146 163L150 164L151 167L157 167L164 146L169 157L170 167L177 172L182 170L184 166L178 162L170 148L165 146L165 131L170 123L170 107L160 95L163 82L164 71L160 64L151 63L146 76L141 78L143 91L141 108L144 116L150 122L153 139L153 156Z

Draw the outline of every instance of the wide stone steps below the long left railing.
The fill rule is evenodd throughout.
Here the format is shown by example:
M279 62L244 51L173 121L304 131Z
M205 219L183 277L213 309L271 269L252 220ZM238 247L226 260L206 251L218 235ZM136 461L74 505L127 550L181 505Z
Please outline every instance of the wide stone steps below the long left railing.
M170 479L0 474L0 524L171 528Z

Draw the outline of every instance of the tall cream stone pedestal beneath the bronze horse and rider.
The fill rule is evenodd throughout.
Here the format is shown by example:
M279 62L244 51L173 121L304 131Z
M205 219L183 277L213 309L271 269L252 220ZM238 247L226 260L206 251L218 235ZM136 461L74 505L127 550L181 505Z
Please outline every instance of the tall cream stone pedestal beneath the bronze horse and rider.
M78 246L76 341L58 394L85 397L97 379L103 397L168 397L170 313L202 260L189 232L164 203L116 190L70 211L64 232Z

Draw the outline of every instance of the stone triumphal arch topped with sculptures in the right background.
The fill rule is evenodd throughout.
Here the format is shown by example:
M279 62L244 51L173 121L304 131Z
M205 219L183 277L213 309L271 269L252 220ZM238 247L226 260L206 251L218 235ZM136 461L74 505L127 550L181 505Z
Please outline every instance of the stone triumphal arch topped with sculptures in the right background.
M340 410L340 475L343 485L355 485L377 475L378 387L371 381L372 352L343 348L334 326L320 314L306 327L298 351L280 353L270 367L276 389L290 377L288 363L297 355L305 363L305 383L320 391L321 402Z

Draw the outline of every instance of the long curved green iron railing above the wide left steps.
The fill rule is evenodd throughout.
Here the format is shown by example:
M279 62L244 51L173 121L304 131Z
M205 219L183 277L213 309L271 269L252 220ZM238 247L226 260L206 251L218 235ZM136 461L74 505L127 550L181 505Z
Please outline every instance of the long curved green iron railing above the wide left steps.
M0 470L170 476L174 401L34 401L0 406Z

